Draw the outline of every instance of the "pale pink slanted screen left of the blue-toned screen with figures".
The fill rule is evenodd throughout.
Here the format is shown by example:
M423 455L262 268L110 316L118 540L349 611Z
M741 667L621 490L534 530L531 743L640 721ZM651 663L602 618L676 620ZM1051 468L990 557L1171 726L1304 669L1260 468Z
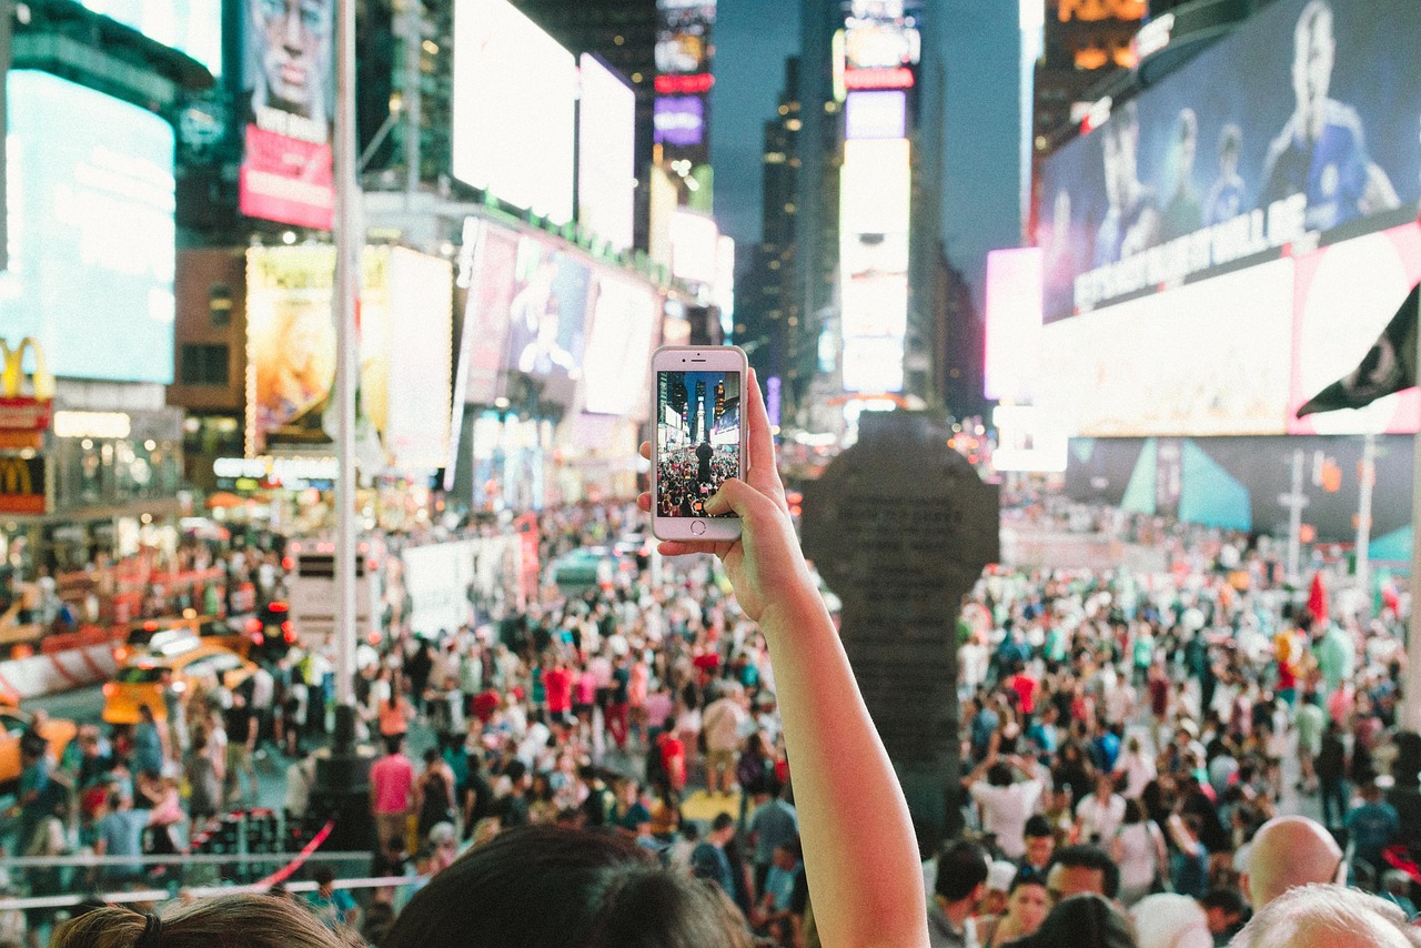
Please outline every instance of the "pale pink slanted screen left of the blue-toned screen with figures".
M477 217L463 229L460 283L468 287L459 347L458 388L469 405L492 405L503 394L503 354L509 338L519 266L519 235ZM456 398L455 404L460 404Z

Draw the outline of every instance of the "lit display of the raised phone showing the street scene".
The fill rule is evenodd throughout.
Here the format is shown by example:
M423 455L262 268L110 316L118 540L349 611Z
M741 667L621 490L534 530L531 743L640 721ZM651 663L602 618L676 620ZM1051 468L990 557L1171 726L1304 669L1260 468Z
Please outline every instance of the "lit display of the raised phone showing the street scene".
M739 476L740 372L658 371L657 516L703 517L706 499Z

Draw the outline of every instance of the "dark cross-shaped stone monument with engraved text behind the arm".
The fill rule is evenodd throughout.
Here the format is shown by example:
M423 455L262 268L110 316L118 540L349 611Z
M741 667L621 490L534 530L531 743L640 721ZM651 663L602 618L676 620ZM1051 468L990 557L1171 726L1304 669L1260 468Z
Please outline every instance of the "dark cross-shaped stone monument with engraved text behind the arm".
M804 489L804 554L843 600L841 635L919 839L959 827L956 620L999 560L1000 500L928 415L864 414Z

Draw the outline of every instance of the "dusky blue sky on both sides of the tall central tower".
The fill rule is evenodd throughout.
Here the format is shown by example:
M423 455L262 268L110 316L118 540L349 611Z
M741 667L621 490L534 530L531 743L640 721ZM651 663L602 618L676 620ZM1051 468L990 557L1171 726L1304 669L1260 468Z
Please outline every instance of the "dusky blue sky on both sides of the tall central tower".
M833 0L826 0L833 1ZM982 294L986 252L1020 242L1017 208L1017 4L925 0L939 18L948 88L942 236ZM737 260L760 239L763 126L799 50L797 0L719 0L710 148L716 217Z

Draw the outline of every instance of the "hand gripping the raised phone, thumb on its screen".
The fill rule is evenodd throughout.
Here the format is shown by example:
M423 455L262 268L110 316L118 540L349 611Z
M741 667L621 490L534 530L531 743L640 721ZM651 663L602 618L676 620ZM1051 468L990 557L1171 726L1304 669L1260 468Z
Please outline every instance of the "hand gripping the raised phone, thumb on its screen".
M713 553L725 564L736 600L745 614L759 621L772 597L783 596L799 583L814 590L809 566L800 551L790 505L784 499L784 485L774 466L774 436L764 398L750 370L745 424L749 435L749 455L745 480L732 478L706 500L706 513L733 512L740 517L740 539L720 542L662 540L662 556ZM641 456L651 459L651 443L642 442ZM651 495L642 493L638 506L649 512ZM817 591L816 591L817 594Z

